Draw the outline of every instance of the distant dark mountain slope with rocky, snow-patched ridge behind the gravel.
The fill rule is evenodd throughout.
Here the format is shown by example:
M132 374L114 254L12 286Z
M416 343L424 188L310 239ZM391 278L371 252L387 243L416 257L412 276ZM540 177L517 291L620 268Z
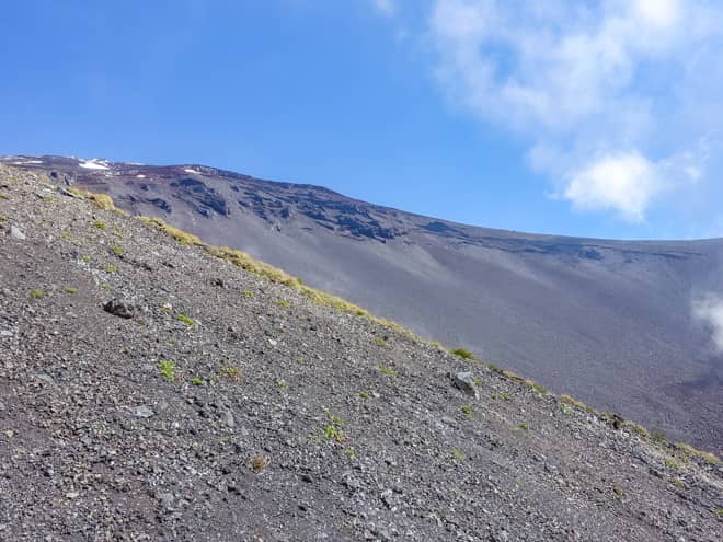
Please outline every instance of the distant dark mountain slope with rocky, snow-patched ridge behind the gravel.
M491 230L200 165L7 157L241 249L555 392L723 450L723 357L698 299L723 240L608 241Z

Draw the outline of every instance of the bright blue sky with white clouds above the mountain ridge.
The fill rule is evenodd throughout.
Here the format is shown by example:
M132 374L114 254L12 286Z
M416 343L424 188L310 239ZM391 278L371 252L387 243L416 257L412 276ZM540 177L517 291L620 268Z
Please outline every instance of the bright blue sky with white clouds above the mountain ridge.
M479 226L723 235L720 2L9 2L0 153L204 163Z

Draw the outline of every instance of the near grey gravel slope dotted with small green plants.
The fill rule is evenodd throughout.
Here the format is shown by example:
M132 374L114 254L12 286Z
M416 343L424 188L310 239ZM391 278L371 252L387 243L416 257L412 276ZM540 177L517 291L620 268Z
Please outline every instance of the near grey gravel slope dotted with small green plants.
M104 198L0 195L1 540L720 540L713 457Z

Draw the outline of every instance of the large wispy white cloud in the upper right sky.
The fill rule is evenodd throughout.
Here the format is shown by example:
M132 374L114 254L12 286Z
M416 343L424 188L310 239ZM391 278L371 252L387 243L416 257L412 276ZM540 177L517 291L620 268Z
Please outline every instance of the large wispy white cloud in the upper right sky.
M524 137L555 197L641 222L705 177L721 16L703 0L436 0L428 27L454 104Z

